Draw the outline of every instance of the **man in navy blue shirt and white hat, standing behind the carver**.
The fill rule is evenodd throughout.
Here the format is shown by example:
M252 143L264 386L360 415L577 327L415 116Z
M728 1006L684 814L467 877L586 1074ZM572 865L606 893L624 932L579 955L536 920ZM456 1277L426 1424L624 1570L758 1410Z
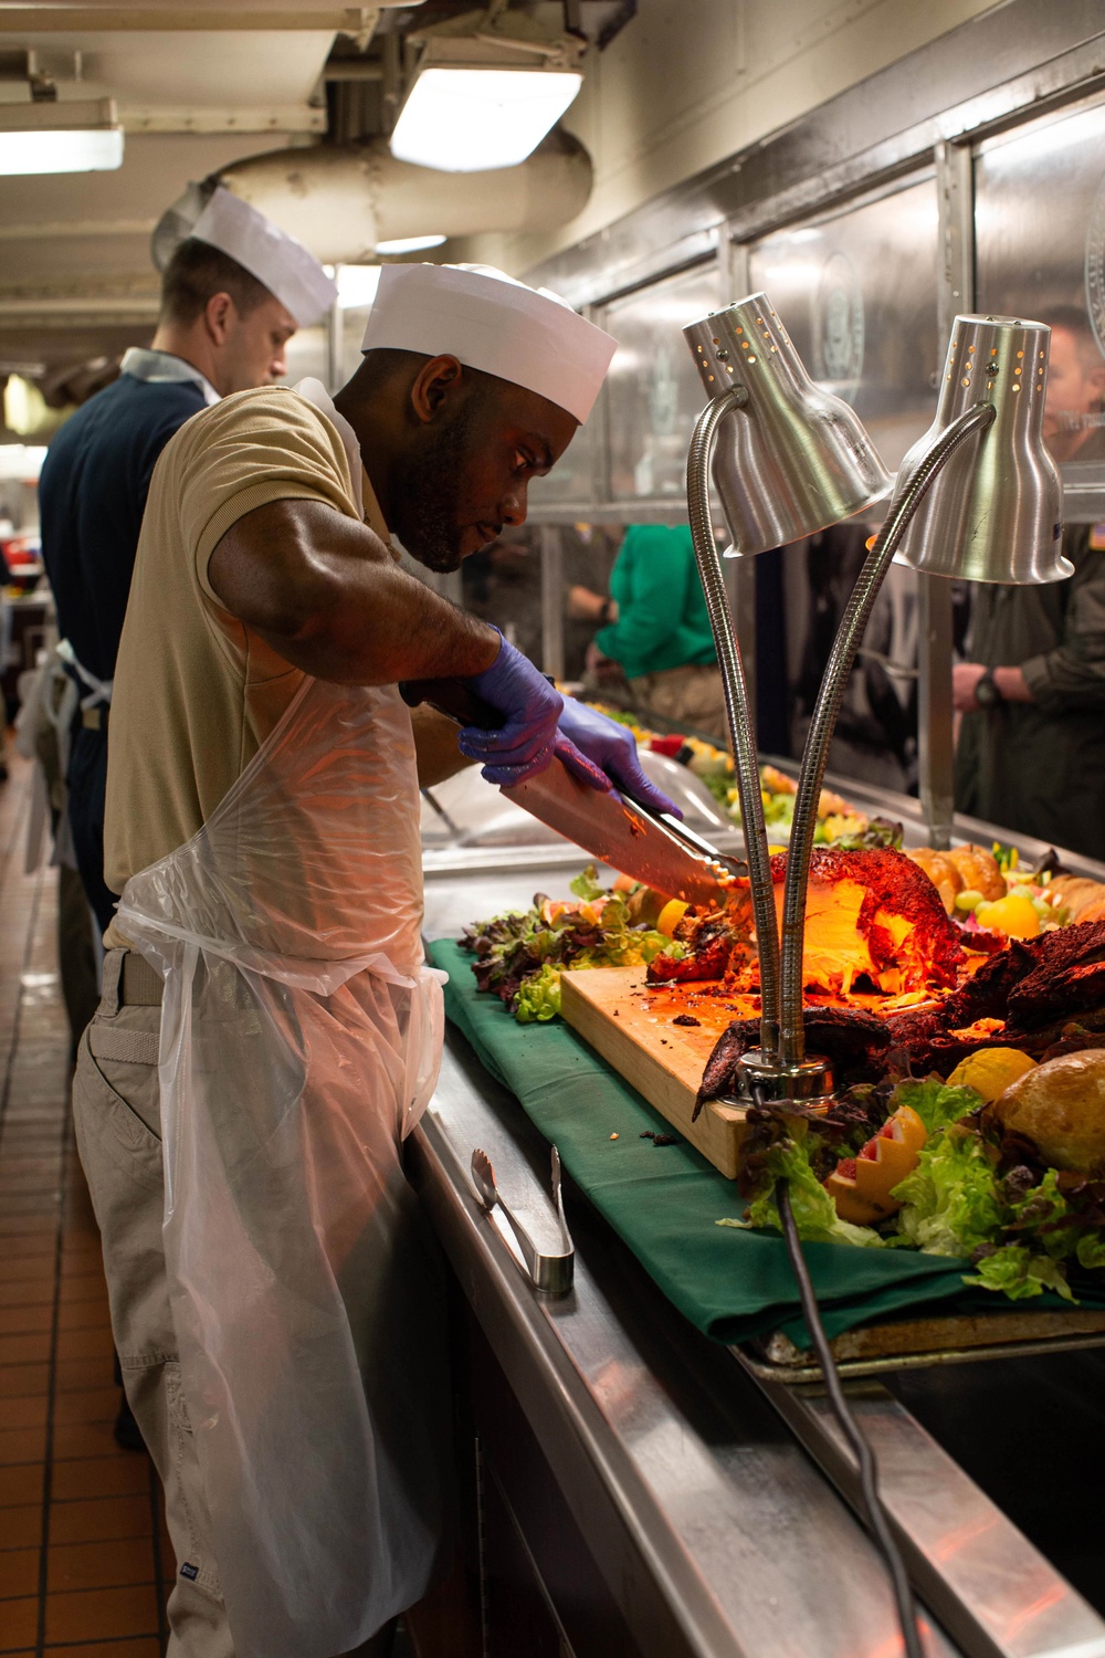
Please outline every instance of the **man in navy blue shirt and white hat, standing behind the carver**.
M192 414L287 371L285 347L333 302L293 237L219 187L172 254L149 350L89 398L50 444L40 479L43 560L81 706L68 791L76 862L101 932L108 721L134 550L157 456Z

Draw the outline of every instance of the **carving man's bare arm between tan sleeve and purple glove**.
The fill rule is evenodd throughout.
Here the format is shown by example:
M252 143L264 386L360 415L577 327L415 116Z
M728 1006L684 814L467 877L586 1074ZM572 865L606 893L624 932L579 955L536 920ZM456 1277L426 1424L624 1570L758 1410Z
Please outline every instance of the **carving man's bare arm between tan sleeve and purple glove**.
M273 501L215 545L227 610L292 667L340 685L469 678L499 635L408 575L366 526L315 501Z

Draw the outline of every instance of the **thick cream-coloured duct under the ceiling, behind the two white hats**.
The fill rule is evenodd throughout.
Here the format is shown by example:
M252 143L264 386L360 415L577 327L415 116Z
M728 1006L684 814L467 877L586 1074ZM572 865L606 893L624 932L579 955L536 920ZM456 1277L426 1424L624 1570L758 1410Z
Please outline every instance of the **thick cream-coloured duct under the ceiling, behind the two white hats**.
M318 144L250 156L217 176L325 264L361 264L378 242L487 230L550 229L573 219L591 192L591 158L577 138L555 129L515 167L437 172L396 161L386 139ZM192 187L194 189L194 187ZM184 202L184 197L182 197ZM154 259L179 239L181 204L154 230Z

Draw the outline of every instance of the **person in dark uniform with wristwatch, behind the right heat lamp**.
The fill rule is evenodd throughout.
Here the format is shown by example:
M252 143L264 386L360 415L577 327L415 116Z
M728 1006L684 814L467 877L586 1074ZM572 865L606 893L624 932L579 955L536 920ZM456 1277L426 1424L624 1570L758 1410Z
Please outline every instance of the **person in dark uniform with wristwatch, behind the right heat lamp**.
M1052 328L1044 439L1105 459L1105 356L1085 313ZM1045 587L974 584L967 662L953 668L956 811L1105 859L1105 524L1070 524L1075 567Z

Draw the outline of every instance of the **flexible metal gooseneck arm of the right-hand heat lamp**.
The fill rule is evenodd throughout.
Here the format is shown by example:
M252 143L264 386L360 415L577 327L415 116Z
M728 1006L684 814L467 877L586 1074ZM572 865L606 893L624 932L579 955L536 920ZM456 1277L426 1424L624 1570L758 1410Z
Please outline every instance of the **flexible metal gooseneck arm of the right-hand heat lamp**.
M981 436L991 426L994 413L992 405L977 403L966 414L961 414L939 434L905 489L895 492L890 512L860 572L860 579L855 584L840 628L837 630L837 638L833 640L813 720L805 739L799 793L794 801L794 822L790 826L790 851L782 904L779 1061L784 1069L799 1064L805 1058L805 1026L802 1020L805 897L810 880L813 834L817 831L817 807L828 763L828 746L837 730L837 716L840 715L848 675L863 642L878 592L914 512L956 449L969 438Z

